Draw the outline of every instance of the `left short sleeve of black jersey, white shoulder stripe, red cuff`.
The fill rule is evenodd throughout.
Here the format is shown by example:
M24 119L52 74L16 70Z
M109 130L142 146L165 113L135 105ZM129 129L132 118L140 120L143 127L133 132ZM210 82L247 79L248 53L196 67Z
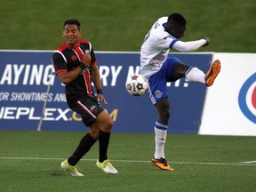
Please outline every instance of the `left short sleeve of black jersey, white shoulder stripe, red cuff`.
M52 54L53 67L55 69L55 74L58 75L60 72L68 71L67 62L65 61L64 56L58 51L53 52Z

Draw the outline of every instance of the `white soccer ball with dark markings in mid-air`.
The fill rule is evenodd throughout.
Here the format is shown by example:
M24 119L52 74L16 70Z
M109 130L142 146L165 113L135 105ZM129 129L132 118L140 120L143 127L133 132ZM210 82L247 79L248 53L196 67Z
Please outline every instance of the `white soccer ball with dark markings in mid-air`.
M132 75L126 83L126 90L133 96L143 95L148 90L148 81L144 76Z

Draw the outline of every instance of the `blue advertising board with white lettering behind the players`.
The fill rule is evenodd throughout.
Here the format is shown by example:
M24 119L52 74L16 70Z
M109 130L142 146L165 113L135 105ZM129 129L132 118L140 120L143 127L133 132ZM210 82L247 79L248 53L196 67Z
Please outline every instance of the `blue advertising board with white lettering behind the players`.
M95 52L113 132L154 132L156 108L148 94L130 95L127 79L139 72L140 52ZM172 53L204 72L211 53ZM0 51L0 129L86 131L66 103L65 86L54 75L52 51ZM197 133L206 87L180 79L168 84L171 119L168 132Z

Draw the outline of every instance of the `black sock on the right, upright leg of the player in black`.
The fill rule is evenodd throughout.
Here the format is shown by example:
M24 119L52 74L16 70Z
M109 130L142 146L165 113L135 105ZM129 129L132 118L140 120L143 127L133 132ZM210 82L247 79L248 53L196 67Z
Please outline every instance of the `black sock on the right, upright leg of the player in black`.
M110 139L110 132L102 132L100 130L100 132L99 132L99 145L100 145L99 161L100 161L100 163L102 163L104 160L108 159L107 152L108 152L109 139Z

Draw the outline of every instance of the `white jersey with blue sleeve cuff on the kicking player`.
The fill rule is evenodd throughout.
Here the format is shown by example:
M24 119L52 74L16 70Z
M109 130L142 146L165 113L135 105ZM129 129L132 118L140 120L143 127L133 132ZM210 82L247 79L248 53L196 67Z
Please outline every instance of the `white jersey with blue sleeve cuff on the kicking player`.
M154 23L140 48L140 74L148 77L162 68L170 48L179 39L165 31L164 23L168 17L162 17Z

